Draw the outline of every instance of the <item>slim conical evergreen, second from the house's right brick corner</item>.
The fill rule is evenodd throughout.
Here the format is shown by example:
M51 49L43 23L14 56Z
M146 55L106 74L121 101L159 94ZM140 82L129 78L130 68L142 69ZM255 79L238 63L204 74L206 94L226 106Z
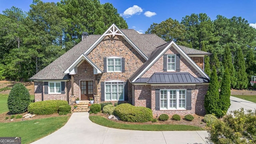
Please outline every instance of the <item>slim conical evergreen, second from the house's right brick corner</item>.
M222 117L226 115L228 108L230 107L230 75L228 72L228 67L225 68L224 76L222 78L222 84L220 87L220 102L219 102Z

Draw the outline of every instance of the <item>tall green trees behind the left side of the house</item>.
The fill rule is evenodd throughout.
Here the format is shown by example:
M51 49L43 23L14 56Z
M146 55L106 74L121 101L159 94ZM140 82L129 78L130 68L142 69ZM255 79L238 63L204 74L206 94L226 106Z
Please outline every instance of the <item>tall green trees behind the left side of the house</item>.
M103 34L115 23L128 28L110 3L99 0L33 0L28 12L0 14L0 80L27 80L81 41L82 32Z

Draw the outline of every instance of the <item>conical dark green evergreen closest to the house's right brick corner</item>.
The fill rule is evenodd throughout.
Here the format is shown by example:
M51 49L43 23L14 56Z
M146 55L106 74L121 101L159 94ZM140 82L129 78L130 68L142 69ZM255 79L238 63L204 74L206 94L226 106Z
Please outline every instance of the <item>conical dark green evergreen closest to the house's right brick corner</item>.
M219 89L218 89L218 77L217 77L215 66L212 66L212 73L210 78L211 80L208 87L208 91L204 97L204 108L206 110L206 114L214 114L217 116L220 113L220 108L218 106Z

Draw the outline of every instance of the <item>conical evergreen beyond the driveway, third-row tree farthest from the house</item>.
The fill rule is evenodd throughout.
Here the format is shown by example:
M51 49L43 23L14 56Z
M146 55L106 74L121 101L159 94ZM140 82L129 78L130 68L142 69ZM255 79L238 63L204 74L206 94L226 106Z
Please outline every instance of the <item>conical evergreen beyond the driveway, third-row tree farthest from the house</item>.
M236 64L236 72L237 72L236 73L237 84L235 88L245 89L248 86L248 79L247 79L247 74L245 72L244 55L240 47L238 47L238 50L237 50L235 64Z

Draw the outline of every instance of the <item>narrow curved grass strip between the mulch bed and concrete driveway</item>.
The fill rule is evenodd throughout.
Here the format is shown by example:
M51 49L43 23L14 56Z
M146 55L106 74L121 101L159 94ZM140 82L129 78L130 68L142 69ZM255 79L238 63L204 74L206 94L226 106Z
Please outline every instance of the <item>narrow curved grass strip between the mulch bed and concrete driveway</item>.
M171 124L121 124L107 120L102 116L89 116L89 119L101 126L109 128L118 128L124 130L146 130L146 131L188 131L188 130L204 130L197 126L189 125L171 125Z

